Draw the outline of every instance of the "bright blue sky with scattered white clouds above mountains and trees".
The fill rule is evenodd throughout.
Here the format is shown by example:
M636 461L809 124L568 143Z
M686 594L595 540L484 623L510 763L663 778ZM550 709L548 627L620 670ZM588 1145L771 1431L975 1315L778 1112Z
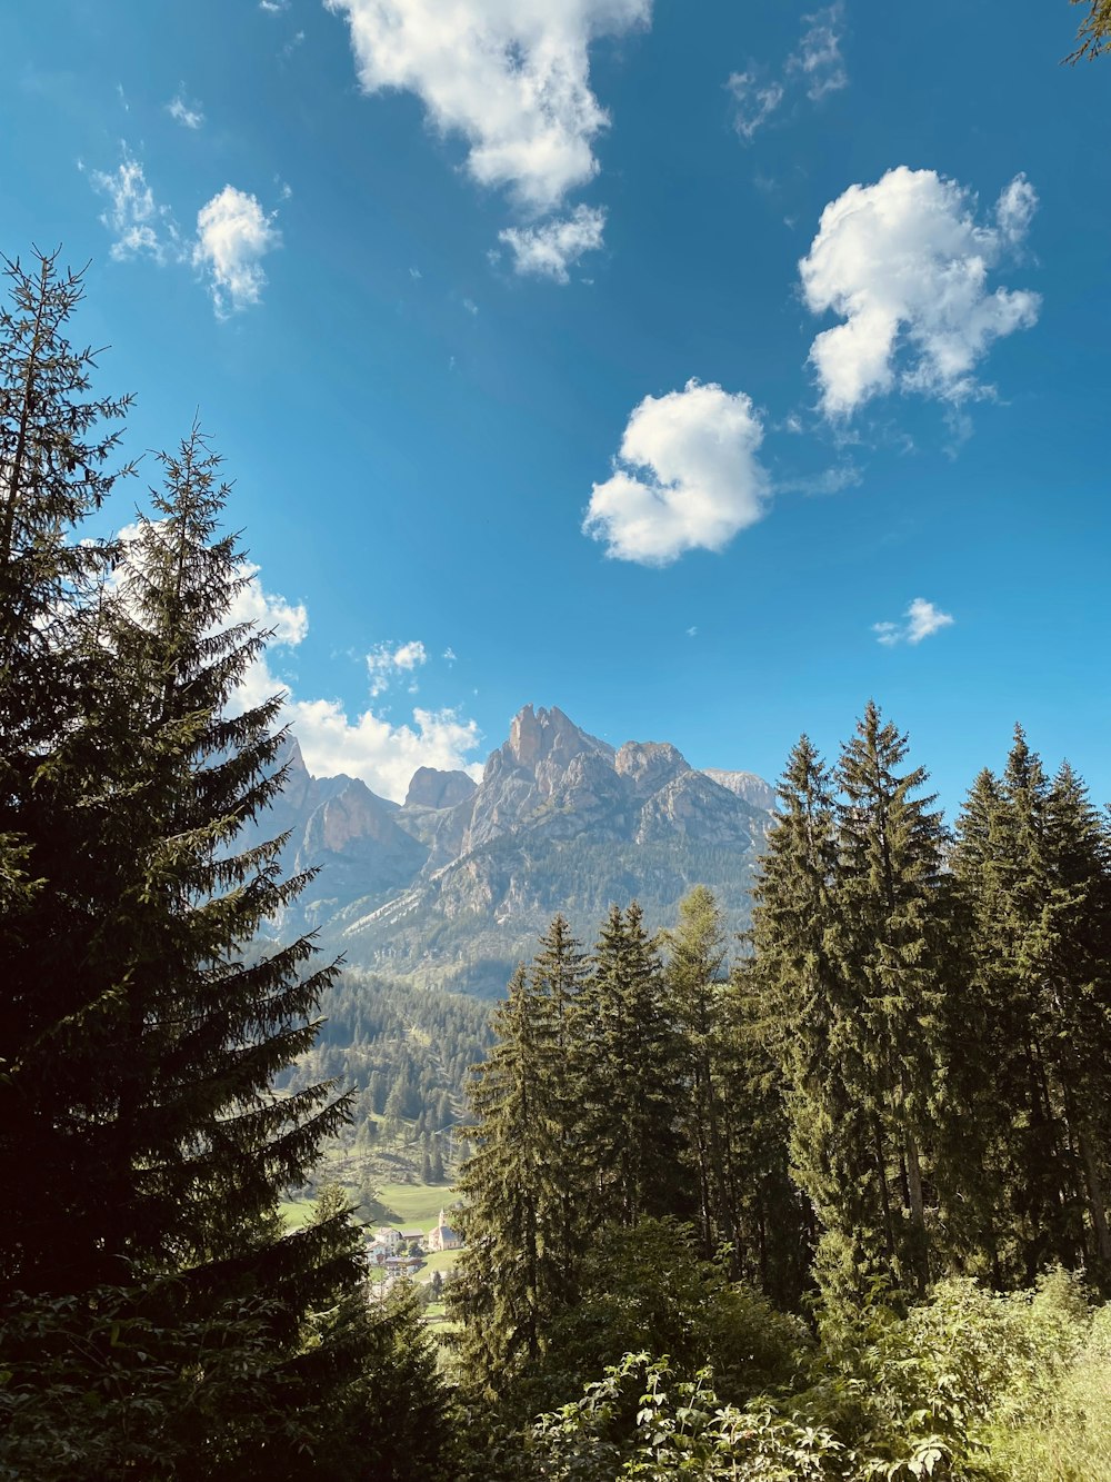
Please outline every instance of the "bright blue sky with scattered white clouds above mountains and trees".
M773 780L874 698L950 815L1018 722L1111 799L1078 7L10 10L0 250L87 264L129 455L224 455L317 775L400 800L532 702Z

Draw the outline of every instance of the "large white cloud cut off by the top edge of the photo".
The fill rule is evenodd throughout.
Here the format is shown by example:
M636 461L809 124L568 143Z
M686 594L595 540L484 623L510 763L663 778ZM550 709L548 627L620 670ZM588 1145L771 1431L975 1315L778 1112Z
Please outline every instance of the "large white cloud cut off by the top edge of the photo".
M593 179L609 119L590 89L591 40L644 24L652 0L324 0L347 18L366 92L415 92L467 169L536 210Z

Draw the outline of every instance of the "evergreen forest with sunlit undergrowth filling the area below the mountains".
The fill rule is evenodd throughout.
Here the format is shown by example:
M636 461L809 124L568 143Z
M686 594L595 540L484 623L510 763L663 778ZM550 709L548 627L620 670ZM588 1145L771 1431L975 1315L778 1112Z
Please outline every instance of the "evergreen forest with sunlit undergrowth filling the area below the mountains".
M868 702L787 759L744 938L705 886L560 913L492 1014L274 940L219 456L126 462L80 276L7 289L0 1478L1111 1479L1083 780L1016 729L950 827ZM398 1171L455 1202L441 1338L366 1279Z

